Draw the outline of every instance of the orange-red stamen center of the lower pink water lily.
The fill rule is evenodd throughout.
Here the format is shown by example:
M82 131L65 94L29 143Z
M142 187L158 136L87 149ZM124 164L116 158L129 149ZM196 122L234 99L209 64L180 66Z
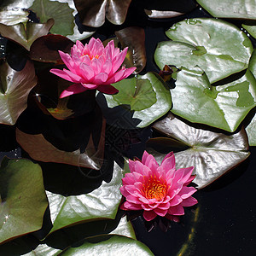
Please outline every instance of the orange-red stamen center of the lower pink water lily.
M167 184L166 182L151 176L145 183L143 183L143 189L146 198L155 198L157 201L160 201L166 196Z

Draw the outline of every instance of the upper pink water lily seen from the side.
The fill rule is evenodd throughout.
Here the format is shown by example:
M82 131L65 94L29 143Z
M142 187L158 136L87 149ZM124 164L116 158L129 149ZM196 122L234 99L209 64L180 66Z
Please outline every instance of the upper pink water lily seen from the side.
M69 70L53 68L50 72L74 83L63 90L60 97L93 89L107 94L117 93L119 90L111 84L127 78L136 69L119 68L125 60L127 49L126 47L120 52L119 48L114 48L113 40L104 48L100 39L91 38L89 44L85 45L77 41L71 49L71 55L59 50L61 59Z

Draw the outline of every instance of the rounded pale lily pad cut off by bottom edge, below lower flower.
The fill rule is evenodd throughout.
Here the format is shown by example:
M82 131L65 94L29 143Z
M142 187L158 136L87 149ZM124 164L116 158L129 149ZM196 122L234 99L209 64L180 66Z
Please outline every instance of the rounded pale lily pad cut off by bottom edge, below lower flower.
M125 236L95 236L80 247L69 247L60 255L154 255L142 242Z

